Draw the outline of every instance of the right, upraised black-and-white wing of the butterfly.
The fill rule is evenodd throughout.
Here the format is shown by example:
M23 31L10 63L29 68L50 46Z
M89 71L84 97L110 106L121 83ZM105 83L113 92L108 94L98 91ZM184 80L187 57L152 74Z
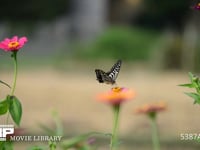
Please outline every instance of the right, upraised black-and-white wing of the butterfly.
M115 82L121 68L122 61L118 60L106 74Z

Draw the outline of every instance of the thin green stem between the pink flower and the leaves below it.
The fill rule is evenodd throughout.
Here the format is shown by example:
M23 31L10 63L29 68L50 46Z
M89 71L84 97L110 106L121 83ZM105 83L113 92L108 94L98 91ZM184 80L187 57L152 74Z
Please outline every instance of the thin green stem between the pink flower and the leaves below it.
M11 89L11 96L14 95L15 88L16 88L16 81L17 81L17 51L13 51L12 57L14 59L14 79L13 79L13 85Z

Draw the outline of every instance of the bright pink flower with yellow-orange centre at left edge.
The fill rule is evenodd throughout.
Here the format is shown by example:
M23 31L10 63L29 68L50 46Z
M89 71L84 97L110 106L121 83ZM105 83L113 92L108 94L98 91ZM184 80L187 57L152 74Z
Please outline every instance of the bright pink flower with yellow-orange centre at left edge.
M6 52L18 51L27 41L26 37L18 38L18 36L13 36L11 39L5 38L0 42L0 49L3 49Z

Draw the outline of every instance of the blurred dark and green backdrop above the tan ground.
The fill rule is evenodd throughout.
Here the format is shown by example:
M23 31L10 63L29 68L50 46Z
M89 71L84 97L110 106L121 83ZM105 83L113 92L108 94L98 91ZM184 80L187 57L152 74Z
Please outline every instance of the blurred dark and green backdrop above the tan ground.
M63 65L67 59L93 62L121 58L156 65L159 69L198 71L199 12L192 9L196 3L195 0L4 1L0 10L0 37L26 35L29 45L28 50L21 52L22 57L28 60L37 57L42 60L40 63L44 59Z

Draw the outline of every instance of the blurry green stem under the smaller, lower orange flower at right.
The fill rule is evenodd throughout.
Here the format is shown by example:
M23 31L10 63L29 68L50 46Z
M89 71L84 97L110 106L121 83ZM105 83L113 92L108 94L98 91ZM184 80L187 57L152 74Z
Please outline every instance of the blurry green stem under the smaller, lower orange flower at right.
M160 150L158 128L157 128L157 124L156 124L156 112L150 113L149 117L151 120L151 128L152 128L153 150Z

